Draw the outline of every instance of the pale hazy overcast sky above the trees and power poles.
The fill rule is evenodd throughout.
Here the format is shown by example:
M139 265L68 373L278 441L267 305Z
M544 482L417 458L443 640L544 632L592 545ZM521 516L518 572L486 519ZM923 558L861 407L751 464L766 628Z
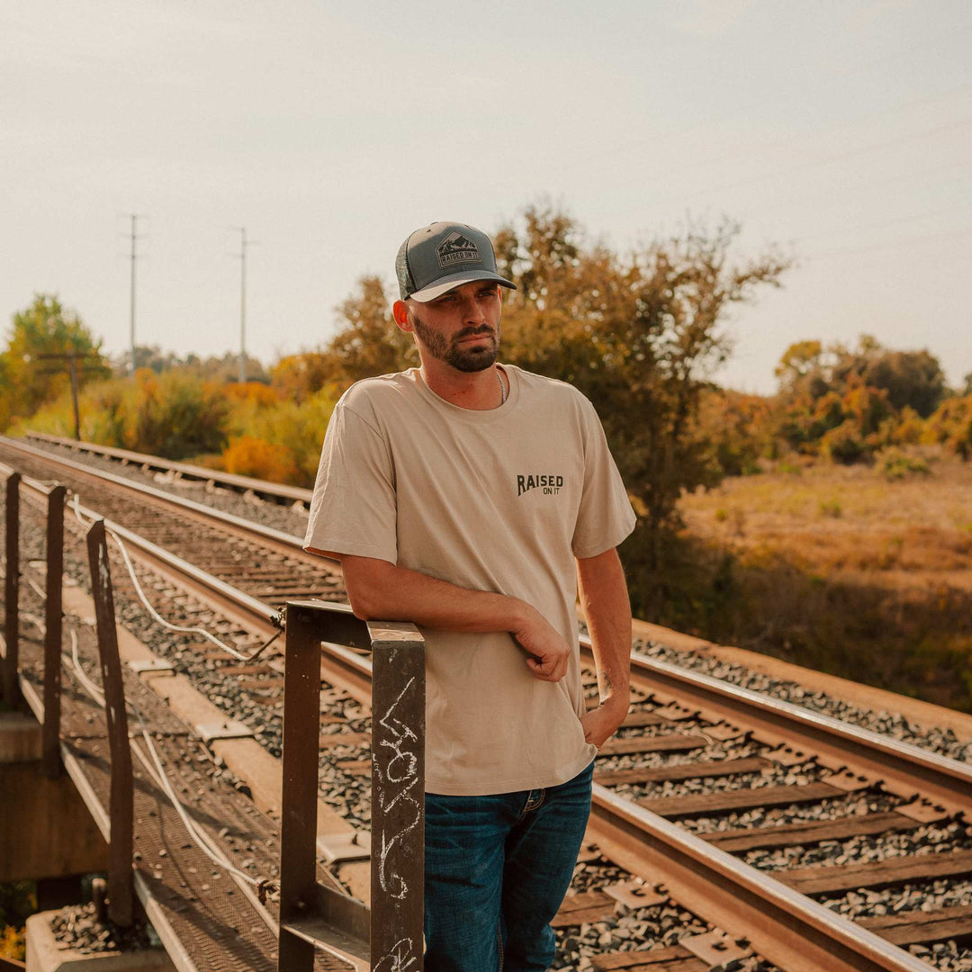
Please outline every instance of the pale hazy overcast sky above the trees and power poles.
M687 216L798 266L734 310L725 384L793 341L972 371L972 3L4 0L0 322L60 295L137 340L268 364L325 341L434 220L550 199L620 250ZM391 289L390 289L391 290Z

